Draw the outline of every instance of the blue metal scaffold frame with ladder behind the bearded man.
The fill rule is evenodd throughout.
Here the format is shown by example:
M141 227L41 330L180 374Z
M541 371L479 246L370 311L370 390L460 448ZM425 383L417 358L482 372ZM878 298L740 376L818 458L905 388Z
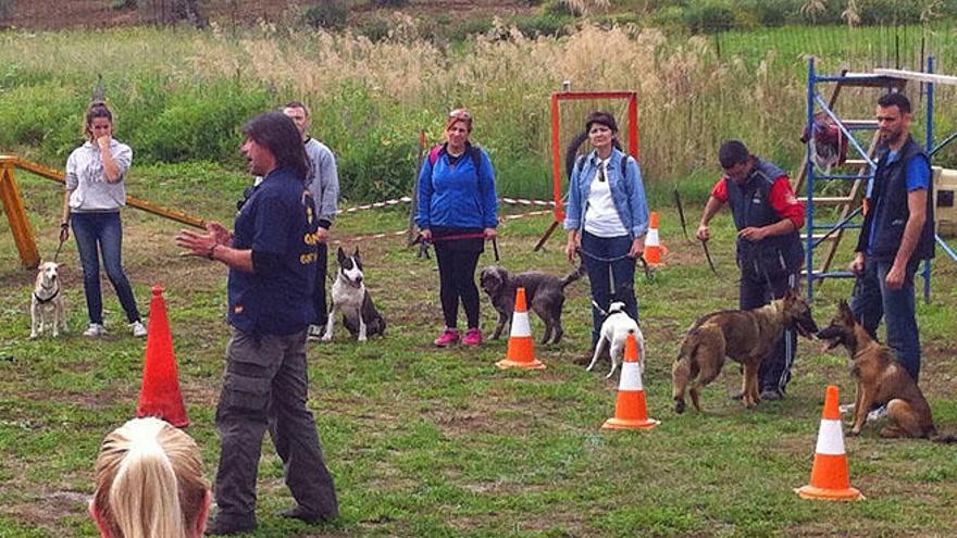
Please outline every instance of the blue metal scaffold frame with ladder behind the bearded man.
M928 152L928 157L933 160L933 155L943 149L946 145L950 143L953 140L957 139L957 132L950 134L946 138L941 141L941 143L934 143L934 85L936 84L947 84L947 85L957 85L957 77L946 76L946 75L936 75L933 73L934 70L934 58L929 57L927 63L927 72L912 72L912 71L903 71L903 70L886 70L886 68L875 68L873 73L842 73L840 75L818 75L815 71L815 59L811 58L808 60L808 82L807 82L807 117L806 125L808 133L811 132L815 122L815 112L820 109L824 113L830 116L830 118L840 127L841 132L847 138L848 142L850 142L850 147L854 148L855 151L859 153L861 159L863 159L863 163L870 170L869 174L852 174L852 175L829 175L829 174L816 174L816 167L813 163L813 159L810 151L810 146L808 146L806 152L806 174L807 174L807 212L805 218L805 225L807 229L806 234L806 245L805 245L805 267L806 267L806 276L807 276L807 297L808 299L813 298L813 286L815 280L820 280L823 278L847 278L853 277L854 275L849 271L834 271L834 272L816 272L813 260L815 260L815 248L820 246L824 240L828 240L832 235L840 234L847 228L860 228L859 223L854 223L853 221L861 214L862 207L858 207L849 214L842 217L836 223L828 223L828 224L816 224L815 223L815 183L816 180L858 180L858 179L867 179L867 188L870 189L870 186L873 182L873 175L877 170L877 163L871 159L871 154L868 150L865 150L863 147L855 139L852 135L852 130L855 128L877 128L875 126L867 126L861 125L860 122L846 121L842 120L833 110L834 102L826 102L821 95L817 91L817 85L822 83L837 83L838 85L844 86L867 86L867 87L875 87L875 88L891 88L891 87L900 87L903 83L907 80L913 80L924 84L925 86L925 104L927 104L927 133L924 147ZM808 145L810 141L808 141ZM813 232L816 229L826 229L826 232L822 236L815 236ZM944 250L944 252L954 261L957 261L957 253L955 253L954 249L947 245L947 242L940 236L935 235L936 243ZM924 263L923 270L921 271L921 275L924 279L923 286L923 295L927 301L930 301L931 296L931 261L928 260Z

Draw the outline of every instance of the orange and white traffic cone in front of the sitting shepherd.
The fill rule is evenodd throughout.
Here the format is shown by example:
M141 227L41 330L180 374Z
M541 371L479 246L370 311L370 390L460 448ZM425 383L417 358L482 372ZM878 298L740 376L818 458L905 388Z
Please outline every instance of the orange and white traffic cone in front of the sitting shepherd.
M863 499L850 487L847 474L847 454L844 453L844 430L841 426L841 412L837 410L837 387L828 386L824 397L824 412L818 431L818 447L815 449L815 467L811 483L794 490L805 499L825 501L857 501Z

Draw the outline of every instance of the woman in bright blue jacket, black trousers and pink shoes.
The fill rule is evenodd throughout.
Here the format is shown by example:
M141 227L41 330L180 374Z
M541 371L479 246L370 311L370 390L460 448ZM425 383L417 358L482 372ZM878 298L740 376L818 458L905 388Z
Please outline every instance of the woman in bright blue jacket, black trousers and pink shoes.
M485 239L496 236L498 198L495 170L481 148L469 141L472 115L464 109L449 113L447 141L436 146L419 173L419 208L415 224L422 238L435 245L438 260L439 298L445 329L435 339L439 347L460 340L457 327L459 300L465 310L468 330L461 342L482 342L478 329L478 288L475 266Z

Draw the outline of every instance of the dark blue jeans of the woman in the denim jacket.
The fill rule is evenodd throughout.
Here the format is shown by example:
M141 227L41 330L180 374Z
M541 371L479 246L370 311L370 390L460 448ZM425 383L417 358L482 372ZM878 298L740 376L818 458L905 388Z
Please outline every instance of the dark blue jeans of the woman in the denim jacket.
M635 263L627 258L632 248L629 236L598 237L582 230L582 260L588 272L592 286L592 300L608 311L612 301L624 303L624 310L632 320L638 320L638 300L635 298ZM592 347L601 337L605 315L592 305Z

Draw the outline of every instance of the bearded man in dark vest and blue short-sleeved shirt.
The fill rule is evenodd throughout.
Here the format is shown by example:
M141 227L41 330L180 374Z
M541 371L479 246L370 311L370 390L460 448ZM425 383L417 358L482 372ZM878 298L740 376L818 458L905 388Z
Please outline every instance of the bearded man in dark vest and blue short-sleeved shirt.
M934 257L931 167L923 148L910 137L910 101L904 95L881 96L877 120L878 170L850 262L857 274L850 309L871 336L885 317L887 346L917 381L920 338L913 275L921 260Z

